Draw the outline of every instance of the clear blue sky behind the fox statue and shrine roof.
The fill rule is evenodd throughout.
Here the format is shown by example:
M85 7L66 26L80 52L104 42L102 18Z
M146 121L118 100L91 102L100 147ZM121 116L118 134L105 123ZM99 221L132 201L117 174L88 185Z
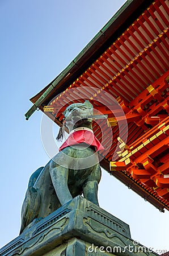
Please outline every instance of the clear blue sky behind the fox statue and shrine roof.
M29 98L67 67L124 2L0 1L0 247L18 236L29 176L49 161L41 142L42 113L24 118L32 105ZM130 225L134 240L169 250L168 212L160 213L104 170L99 202Z

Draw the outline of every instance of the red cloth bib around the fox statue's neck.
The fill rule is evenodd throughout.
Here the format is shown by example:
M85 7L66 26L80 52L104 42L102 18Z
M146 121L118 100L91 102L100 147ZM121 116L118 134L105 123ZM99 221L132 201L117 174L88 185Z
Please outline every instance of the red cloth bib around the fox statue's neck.
M89 129L85 130L85 128L81 130L75 129L74 131L71 131L69 137L66 139L64 144L62 144L59 150L61 151L65 147L73 146L79 143L86 143L90 146L94 146L96 148L96 151L104 150L104 147L95 137L93 131L90 131Z

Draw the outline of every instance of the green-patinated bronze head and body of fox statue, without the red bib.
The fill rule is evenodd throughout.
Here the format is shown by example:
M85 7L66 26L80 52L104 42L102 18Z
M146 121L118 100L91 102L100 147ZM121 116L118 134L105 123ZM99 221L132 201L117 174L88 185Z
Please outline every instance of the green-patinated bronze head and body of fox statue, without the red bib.
M92 119L85 118L92 113L89 101L71 104L64 112L65 126L69 132L79 127L92 131ZM79 143L64 148L29 179L20 233L82 193L84 198L99 205L100 177L98 154L94 147Z

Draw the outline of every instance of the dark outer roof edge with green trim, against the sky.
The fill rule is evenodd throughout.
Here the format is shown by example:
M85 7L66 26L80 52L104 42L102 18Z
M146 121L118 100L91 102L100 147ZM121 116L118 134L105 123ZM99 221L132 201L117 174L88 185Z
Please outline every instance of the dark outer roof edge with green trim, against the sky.
M43 96L44 92L46 92L46 94L41 98L40 105L43 105L44 102L47 104L52 100L53 94L63 92L72 82L82 75L109 46L111 46L112 42L115 42L115 40L119 38L152 2L153 0L126 1L119 11L113 15L107 24L105 24L87 46L82 49L78 56L71 61L64 71L41 90L41 92L30 99L32 103L36 104L37 100ZM52 85L52 88L47 92L50 85ZM39 102L37 102L37 104L39 104Z

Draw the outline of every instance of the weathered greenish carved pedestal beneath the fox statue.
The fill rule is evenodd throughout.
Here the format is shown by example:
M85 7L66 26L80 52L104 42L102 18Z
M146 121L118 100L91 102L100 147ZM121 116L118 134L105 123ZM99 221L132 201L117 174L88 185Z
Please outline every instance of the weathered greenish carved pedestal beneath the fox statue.
M77 196L2 247L0 256L158 255L137 245L129 225Z

